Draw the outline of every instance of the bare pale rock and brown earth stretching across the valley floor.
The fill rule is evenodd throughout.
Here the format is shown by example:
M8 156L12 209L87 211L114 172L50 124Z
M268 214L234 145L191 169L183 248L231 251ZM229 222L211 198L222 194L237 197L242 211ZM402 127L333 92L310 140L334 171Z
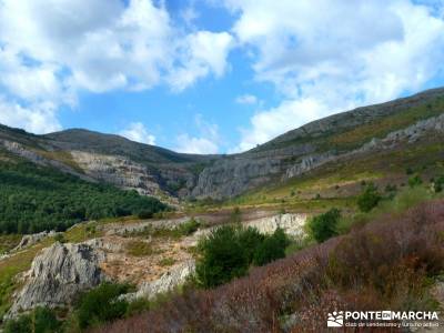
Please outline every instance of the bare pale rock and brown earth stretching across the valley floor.
M293 236L303 235L303 225L306 220L305 214L270 215L269 212L255 212L246 218L250 220L243 223L245 226L258 228L262 233L272 233L275 229L282 228ZM216 226L200 229L194 234L180 240L157 241L152 238L140 238L138 232L143 231L148 223L157 228L173 229L189 219L185 216L131 222L129 225L124 222L104 224L104 236L82 243L53 243L41 250L34 258L31 269L19 276L22 287L16 292L14 302L7 316L13 317L39 305L50 307L69 305L80 292L104 281L135 284L138 287L135 292L122 295L129 301L139 297L152 299L159 293L173 290L194 273L195 262L189 249L195 246L201 236L205 236ZM20 244L26 246L29 244L27 242L37 243L53 234L26 235ZM128 245L134 241L147 242L153 251L142 256L129 254ZM165 258L173 261L172 265L159 264Z

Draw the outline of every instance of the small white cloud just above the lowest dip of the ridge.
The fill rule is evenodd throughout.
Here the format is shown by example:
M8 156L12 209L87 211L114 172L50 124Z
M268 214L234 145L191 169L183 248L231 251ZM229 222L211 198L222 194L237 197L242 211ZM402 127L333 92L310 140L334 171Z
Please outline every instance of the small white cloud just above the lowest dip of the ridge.
M175 151L191 154L215 154L219 152L219 128L203 120L201 114L194 118L199 135L180 134Z

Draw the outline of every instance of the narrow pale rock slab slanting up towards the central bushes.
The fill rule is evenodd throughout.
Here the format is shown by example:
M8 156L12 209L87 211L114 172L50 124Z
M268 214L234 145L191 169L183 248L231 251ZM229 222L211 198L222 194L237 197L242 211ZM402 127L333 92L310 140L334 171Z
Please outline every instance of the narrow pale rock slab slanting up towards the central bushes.
M164 273L159 280L144 282L135 293L123 295L123 299L131 301L140 297L153 299L157 294L172 291L174 287L183 284L186 279L195 271L194 260L183 262L169 272Z

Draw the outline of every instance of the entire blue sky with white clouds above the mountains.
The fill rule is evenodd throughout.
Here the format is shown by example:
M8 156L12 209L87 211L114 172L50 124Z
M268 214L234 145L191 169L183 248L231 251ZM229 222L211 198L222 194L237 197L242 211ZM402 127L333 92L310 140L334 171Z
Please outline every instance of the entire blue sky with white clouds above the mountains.
M0 0L0 123L248 150L443 85L443 1Z

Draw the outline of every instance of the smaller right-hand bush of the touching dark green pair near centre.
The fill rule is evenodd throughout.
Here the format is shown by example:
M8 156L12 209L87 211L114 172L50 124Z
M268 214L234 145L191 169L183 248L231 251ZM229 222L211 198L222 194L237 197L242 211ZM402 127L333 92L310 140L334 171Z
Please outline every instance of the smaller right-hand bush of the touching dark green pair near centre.
M262 266L274 260L285 256L285 249L290 244L289 238L285 232L278 228L271 236L258 246L254 253L253 263L258 266Z

